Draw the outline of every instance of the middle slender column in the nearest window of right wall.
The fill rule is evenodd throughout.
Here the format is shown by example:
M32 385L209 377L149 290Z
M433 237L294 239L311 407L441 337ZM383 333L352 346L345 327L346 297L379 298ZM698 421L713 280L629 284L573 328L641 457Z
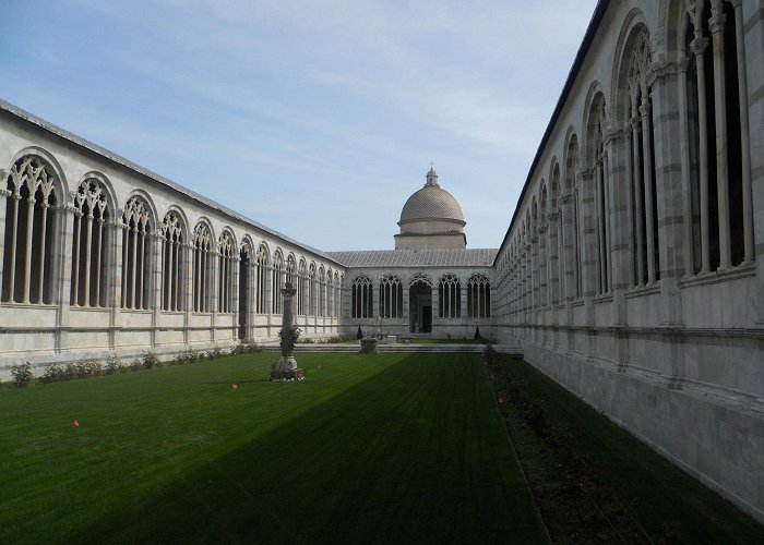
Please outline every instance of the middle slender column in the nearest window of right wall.
M730 266L729 165L727 159L727 90L725 88L725 14L721 0L712 0L708 22L714 49L714 113L716 116L716 195L719 208L719 269Z

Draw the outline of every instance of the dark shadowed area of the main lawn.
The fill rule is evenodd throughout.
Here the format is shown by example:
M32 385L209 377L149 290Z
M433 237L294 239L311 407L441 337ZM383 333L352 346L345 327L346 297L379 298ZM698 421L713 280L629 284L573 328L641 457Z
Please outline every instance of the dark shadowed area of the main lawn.
M482 370L444 358L408 356L67 538L546 541Z

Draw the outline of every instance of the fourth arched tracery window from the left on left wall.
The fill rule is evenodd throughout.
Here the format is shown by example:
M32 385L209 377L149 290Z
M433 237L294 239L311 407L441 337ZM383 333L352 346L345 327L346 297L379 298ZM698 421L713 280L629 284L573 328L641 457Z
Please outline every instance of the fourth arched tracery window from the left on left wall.
M168 211L162 222L162 308L165 311L182 311L186 293L186 256L183 223L175 211Z

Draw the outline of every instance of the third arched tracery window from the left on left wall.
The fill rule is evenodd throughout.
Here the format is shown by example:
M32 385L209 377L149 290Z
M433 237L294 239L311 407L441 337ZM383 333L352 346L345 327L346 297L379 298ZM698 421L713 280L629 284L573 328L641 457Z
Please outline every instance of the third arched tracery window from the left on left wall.
M122 308L151 307L151 232L148 205L130 197L122 213Z

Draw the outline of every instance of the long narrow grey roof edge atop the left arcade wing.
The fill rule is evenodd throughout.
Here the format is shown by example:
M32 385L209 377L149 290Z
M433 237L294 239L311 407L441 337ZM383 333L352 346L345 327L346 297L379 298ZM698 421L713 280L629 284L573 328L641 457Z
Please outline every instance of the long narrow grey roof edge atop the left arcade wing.
M255 228L260 231L263 231L267 234L271 234L271 235L275 237L276 239L280 239L283 242L287 242L287 243L293 244L297 247L300 247L309 253L312 253L313 255L324 257L327 259L332 259L332 257L326 255L326 253L322 252L321 250L314 249L314 247L309 246L307 244L302 244L301 242L298 242L295 239L287 237L286 234L279 233L278 231L275 231L275 230L271 229L270 227L266 227L262 223L259 223L259 222L256 222L256 221L254 221L246 216L242 216L241 214L239 214L237 211L231 210L230 208L223 206L220 203L217 203L217 202L215 202L211 198L207 198L203 195L200 195L199 193L195 193L195 192L189 190L188 187L183 187L179 183L176 183L168 178L165 178L165 177L159 175L155 172L152 172L147 168L141 167L140 165L136 165L136 164L126 159L124 157L121 157L120 155L115 154L114 152L109 152L108 149L103 148L96 144L93 144L92 142L86 141L85 138L82 138L82 137L77 136L76 134L70 133L69 131L65 131L65 130L44 120L41 118L34 116L34 114L29 113L28 111L23 110L22 108L19 108L17 106L12 105L11 102L8 102L5 100L0 99L0 111L2 111L2 110L7 111L8 113L10 113L12 116L15 116L16 118L21 118L21 119L23 119L23 120L25 120L34 125L37 125L40 129L44 129L45 131L48 131L49 133L52 133L61 138L64 138L69 142L72 142L73 144L76 144L76 145L82 146L86 149L89 149L91 152L94 152L97 155L100 155L102 157L104 157L105 159L107 159L111 162L116 162L118 165L121 165L121 166L130 169L130 170L133 170L136 173L139 173L145 178L148 178L160 185L165 185L168 189L174 190L178 193L181 193L181 194L186 195L187 197L190 197L191 199L196 201L204 206L207 206L210 208L215 209L225 216L231 217L231 218L237 219L239 221L242 221L244 223L249 223L250 226L252 226L253 228Z

